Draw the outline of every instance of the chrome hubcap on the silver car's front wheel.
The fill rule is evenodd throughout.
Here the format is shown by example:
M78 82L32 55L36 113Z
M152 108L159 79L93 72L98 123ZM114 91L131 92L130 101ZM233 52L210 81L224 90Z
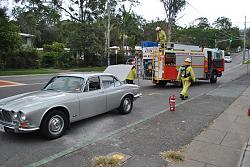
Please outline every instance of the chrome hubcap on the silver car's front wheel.
M55 115L50 119L48 126L51 134L60 134L64 127L64 120L60 115Z

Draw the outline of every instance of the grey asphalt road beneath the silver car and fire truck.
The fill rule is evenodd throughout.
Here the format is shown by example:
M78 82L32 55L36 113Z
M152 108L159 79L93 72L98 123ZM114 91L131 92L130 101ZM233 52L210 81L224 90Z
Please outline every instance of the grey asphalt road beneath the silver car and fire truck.
M213 92L246 73L246 65L240 65L242 55L233 55L232 63L226 64L226 71L216 84L200 81L191 87L191 97ZM26 85L0 88L0 99L15 94L41 89L53 75L0 77L0 80L15 81ZM74 123L71 130L57 140L47 141L38 132L30 134L0 134L0 166L25 166L46 159L68 148L94 143L105 134L116 133L118 129L135 122L146 120L168 107L170 95L178 95L180 88L173 85L153 86L151 81L140 81L143 98L135 102L129 115L119 115L116 111ZM233 93L233 92L232 92ZM230 96L230 93L229 93ZM177 99L177 104L181 100Z

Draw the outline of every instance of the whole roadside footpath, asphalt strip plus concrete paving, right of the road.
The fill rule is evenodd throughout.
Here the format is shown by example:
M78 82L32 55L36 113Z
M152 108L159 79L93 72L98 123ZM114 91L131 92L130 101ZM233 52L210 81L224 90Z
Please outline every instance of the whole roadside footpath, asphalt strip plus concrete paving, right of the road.
M129 157L123 167L163 167L166 162L160 158L160 152L188 145L184 162L167 165L248 167L249 85L250 75L245 75L212 92L183 101L175 112L166 109L148 120L41 164L91 167L94 157L118 152Z

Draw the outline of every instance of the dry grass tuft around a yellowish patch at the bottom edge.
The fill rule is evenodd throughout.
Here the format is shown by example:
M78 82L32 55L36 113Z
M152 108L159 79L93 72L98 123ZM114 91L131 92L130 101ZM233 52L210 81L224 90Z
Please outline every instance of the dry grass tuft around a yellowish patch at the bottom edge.
M93 159L93 167L120 167L120 160L109 156L98 156Z

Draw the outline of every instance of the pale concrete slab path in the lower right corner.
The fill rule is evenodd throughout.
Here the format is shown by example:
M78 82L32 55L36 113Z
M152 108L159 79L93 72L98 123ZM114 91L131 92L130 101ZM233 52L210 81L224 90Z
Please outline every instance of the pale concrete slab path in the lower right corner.
M249 167L250 86L187 147L186 160L171 167Z

